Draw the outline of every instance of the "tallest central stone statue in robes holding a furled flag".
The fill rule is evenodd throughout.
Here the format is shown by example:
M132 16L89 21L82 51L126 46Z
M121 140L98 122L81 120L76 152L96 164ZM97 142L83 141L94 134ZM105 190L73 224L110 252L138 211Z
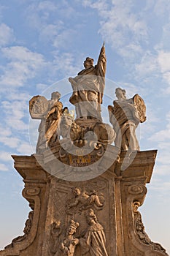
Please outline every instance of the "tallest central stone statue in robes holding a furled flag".
M69 78L73 89L69 101L75 105L77 118L96 118L101 121L106 63L107 59L103 45L96 66L93 66L93 59L87 57L84 61L85 69L82 69L75 78Z

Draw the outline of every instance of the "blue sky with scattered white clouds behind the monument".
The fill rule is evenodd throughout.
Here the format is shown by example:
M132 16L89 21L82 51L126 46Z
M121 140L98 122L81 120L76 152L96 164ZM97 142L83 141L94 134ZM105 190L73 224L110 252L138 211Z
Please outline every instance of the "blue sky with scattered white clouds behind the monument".
M60 91L69 105L67 78L83 68L85 57L97 60L103 41L103 118L107 102L115 99L115 86L128 97L138 93L147 105L147 121L138 132L140 148L158 149L158 156L140 211L152 241L170 253L169 0L0 1L1 248L22 234L29 211L21 195L22 178L10 157L34 153L38 122L30 121L28 100L37 94L49 99L52 91Z

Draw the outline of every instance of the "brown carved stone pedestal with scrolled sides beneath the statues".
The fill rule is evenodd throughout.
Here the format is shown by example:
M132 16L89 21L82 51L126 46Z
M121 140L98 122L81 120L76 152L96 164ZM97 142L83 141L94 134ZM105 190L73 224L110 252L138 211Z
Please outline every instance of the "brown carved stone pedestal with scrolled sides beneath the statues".
M53 154L46 151L44 155L35 154L31 157L12 156L15 169L23 177L23 197L30 203L31 212L26 220L24 235L15 238L12 244L0 252L0 256L64 255L61 245L65 243L66 227L71 220L79 223L74 234L78 242L74 245L73 254L68 252L67 255L95 255L91 250L95 246L93 239L87 244L85 253L87 236L93 238L94 233L98 236L96 244L101 253L98 256L167 255L165 249L153 243L144 232L138 211L147 194L146 184L152 176L155 150L119 153L117 148L109 146L107 157L114 156L115 161L109 164L104 173L84 181L66 179L66 173L65 180L55 175L62 173L58 159L63 157L65 164L72 159L67 158L60 147L52 151ZM110 157L107 157L99 162L98 168L109 161ZM79 159L80 164L81 161ZM77 165L77 160L71 163ZM90 167L88 160L84 164ZM79 196L75 196L75 188L80 190ZM87 222L87 216L94 215L98 224L92 227ZM106 243L99 242L101 232Z

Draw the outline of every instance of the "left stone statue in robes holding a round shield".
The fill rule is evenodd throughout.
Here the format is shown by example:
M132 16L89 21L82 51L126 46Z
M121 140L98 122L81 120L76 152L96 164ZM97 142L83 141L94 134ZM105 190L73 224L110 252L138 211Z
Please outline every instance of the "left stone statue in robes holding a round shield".
M63 104L59 101L60 98L61 94L54 91L50 100L37 95L29 101L31 118L41 119L39 138L36 144L37 154L42 154L48 146L53 146L58 138L58 127L63 110Z

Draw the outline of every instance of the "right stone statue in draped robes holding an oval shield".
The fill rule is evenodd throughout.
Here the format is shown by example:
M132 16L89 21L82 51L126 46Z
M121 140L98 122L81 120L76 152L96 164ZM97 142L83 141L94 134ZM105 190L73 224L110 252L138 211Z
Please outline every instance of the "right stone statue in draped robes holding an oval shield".
M138 94L126 99L125 90L121 88L117 88L115 94L114 106L108 106L109 121L116 132L115 146L125 151L139 151L136 127L146 120L144 101Z

